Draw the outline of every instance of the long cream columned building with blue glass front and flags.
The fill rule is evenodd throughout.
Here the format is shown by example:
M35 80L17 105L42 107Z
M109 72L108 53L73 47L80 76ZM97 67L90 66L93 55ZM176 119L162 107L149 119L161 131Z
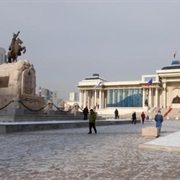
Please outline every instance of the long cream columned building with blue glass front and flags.
M109 82L93 74L78 83L80 106L103 110L108 108L179 108L180 61L142 75L139 81Z

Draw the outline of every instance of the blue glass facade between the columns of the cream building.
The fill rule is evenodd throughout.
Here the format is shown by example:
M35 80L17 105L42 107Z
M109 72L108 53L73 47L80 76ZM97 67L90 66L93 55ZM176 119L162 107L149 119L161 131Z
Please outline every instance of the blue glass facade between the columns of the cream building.
M142 91L137 89L111 89L107 93L107 107L142 107Z

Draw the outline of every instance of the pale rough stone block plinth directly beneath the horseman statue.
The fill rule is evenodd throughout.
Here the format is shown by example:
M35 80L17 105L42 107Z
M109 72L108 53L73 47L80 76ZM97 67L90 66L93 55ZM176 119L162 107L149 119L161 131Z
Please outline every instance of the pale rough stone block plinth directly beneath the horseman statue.
M0 113L45 106L44 99L35 94L35 73L34 66L27 60L0 65Z

